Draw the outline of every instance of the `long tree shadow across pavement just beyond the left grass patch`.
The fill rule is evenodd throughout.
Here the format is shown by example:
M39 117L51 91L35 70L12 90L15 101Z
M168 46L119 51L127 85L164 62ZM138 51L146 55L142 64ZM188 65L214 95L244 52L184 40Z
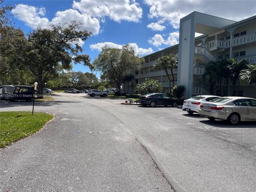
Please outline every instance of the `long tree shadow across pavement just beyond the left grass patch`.
M35 106L53 106L53 105L60 105L61 103L81 103L78 101L36 101ZM7 107L20 107L20 106L33 106L33 102L28 101L18 101L18 102L12 102L12 101L6 101L3 100L0 102L1 108L7 108Z

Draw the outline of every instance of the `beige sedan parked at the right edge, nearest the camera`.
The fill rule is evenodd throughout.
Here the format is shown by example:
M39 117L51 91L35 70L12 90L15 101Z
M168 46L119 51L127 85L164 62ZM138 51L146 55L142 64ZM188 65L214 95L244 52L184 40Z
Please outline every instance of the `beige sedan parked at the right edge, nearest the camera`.
M240 121L256 122L256 99L245 97L221 97L200 106L199 114L210 120L227 120L236 125Z

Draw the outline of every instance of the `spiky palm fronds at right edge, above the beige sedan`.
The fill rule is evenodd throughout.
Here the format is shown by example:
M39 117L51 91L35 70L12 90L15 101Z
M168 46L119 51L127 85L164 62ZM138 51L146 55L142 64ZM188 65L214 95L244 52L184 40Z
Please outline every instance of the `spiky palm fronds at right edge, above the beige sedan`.
M241 70L239 79L243 84L251 84L256 82L256 65L248 65L247 69Z

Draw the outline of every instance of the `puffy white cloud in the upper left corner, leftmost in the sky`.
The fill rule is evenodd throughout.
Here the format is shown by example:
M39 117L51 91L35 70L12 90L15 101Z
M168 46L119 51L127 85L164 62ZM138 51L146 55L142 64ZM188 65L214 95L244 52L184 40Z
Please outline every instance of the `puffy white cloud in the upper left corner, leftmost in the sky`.
M47 18L40 17L40 15L45 14L45 9L43 7L38 9L34 6L19 4L12 10L12 14L33 29L36 29L37 27L47 28L47 25L49 24Z

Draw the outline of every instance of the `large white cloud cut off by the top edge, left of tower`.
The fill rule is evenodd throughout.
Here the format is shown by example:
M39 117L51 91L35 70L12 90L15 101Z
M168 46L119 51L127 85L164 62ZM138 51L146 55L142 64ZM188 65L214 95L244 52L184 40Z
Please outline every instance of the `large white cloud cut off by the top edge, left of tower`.
M139 22L142 18L142 9L138 3L130 0L81 0L73 1L73 9L81 11L91 17L109 17L114 21L122 20Z

